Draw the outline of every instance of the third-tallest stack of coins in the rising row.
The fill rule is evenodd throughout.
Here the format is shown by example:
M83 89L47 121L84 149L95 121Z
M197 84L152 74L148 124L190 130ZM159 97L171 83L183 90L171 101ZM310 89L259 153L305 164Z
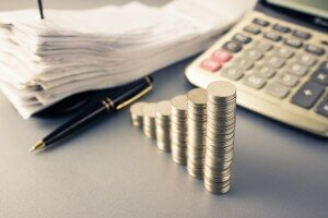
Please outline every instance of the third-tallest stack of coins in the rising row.
M187 96L179 95L171 100L171 147L173 161L187 161Z

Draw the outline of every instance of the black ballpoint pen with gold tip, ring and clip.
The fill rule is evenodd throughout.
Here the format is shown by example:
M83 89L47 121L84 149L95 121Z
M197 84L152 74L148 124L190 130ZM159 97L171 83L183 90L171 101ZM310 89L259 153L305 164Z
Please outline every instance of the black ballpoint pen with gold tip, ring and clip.
M136 85L134 85L136 84ZM99 100L95 106L87 109L82 114L73 118L63 125L59 126L57 130L51 132L45 138L36 143L30 152L34 152L40 148L48 147L60 140L75 133L77 131L83 129L92 121L97 120L101 117L110 114L118 111L131 102L138 100L140 97L144 96L152 89L152 78L145 77L136 83L128 90L119 94L117 97L106 97Z

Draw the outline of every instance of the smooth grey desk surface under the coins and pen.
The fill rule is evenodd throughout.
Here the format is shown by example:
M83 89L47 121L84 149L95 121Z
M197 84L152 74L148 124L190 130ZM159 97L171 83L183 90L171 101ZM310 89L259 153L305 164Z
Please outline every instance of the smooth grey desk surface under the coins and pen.
M156 72L144 99L190 89L184 77L189 61ZM233 186L221 196L133 129L127 110L38 154L30 146L67 118L25 121L2 94L0 116L3 218L328 217L327 141L242 108Z

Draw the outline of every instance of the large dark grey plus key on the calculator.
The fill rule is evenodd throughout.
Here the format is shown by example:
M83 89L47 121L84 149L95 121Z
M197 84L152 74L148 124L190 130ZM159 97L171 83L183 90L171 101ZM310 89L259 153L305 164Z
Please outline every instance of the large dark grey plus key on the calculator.
M324 90L324 86L313 82L306 82L292 97L292 104L303 108L311 108L315 105Z

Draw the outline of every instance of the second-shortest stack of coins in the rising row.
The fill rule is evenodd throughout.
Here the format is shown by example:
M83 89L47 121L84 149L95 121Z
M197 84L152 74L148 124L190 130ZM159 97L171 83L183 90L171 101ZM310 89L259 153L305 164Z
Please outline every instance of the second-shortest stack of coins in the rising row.
M150 102L143 107L143 133L150 138L156 138L155 106L156 104Z

